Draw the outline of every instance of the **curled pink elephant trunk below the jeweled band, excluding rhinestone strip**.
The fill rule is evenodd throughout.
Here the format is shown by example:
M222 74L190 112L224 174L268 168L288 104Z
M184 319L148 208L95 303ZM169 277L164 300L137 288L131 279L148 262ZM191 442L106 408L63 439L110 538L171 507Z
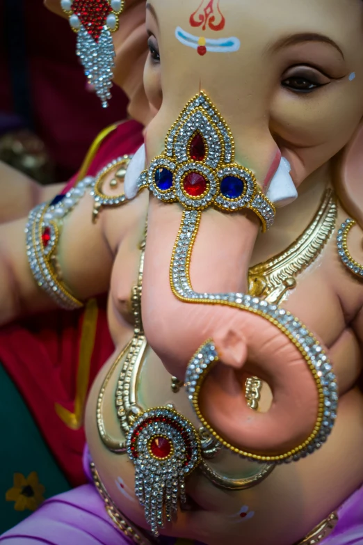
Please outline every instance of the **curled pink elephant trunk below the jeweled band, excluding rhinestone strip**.
M248 214L223 214L213 209L202 212L190 255L194 292L247 292L248 267L259 230L255 216ZM258 313L232 308L218 298L212 301L217 303L212 308L178 296L170 262L181 216L179 205L164 205L150 198L143 281L147 339L166 369L179 379L184 379L188 361L198 347L213 339L220 363L202 388L203 416L220 436L241 450L267 457L288 452L304 443L316 425L316 381L287 335ZM181 233L179 241L184 236L188 239L191 233ZM188 278L181 281L187 285ZM266 413L252 411L245 400L243 386L248 374L257 375L271 387L273 403Z

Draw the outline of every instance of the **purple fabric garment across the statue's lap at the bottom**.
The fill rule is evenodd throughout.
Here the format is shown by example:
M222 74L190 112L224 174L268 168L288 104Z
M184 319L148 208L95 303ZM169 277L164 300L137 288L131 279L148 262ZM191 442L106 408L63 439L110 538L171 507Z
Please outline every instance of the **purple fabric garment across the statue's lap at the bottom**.
M91 480L89 462L90 455L86 448L83 465L88 479ZM346 500L338 513L339 522L323 544L363 545L363 487ZM0 536L1 545L129 545L129 543L129 539L113 525L104 508L104 502L92 483L47 500L28 519ZM175 544L175 539L161 538L161 544Z

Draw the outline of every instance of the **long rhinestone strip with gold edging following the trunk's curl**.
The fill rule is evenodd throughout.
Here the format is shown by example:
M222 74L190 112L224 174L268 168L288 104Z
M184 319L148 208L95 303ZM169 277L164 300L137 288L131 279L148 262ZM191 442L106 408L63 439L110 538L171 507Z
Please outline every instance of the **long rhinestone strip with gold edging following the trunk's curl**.
M250 461L263 461L281 464L298 461L301 457L312 454L328 439L337 418L338 384L332 363L323 345L316 339L300 320L284 308L269 304L258 297L251 297L243 293L207 293L193 290L190 276L193 245L200 226L202 212L187 210L183 212L181 227L172 253L170 263L170 287L172 293L185 303L202 305L219 305L238 308L247 313L259 315L270 324L278 328L280 333L289 338L289 341L298 349L304 358L307 372L312 375L316 384L318 397L318 413L313 432L300 445L278 455L264 455L263 452L248 452L230 445L216 432L207 419L202 415L199 407L200 388L202 383L218 361L218 353L213 340L207 340L189 361L186 371L186 393L201 425L225 448L232 450Z

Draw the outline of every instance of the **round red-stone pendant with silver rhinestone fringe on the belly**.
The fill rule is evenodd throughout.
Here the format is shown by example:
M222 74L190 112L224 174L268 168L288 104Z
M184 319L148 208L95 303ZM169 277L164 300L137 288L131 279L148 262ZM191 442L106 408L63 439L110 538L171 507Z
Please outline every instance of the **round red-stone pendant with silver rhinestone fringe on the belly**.
M168 407L141 414L127 437L135 465L135 493L154 535L185 503L186 475L200 464L200 439L184 416Z

